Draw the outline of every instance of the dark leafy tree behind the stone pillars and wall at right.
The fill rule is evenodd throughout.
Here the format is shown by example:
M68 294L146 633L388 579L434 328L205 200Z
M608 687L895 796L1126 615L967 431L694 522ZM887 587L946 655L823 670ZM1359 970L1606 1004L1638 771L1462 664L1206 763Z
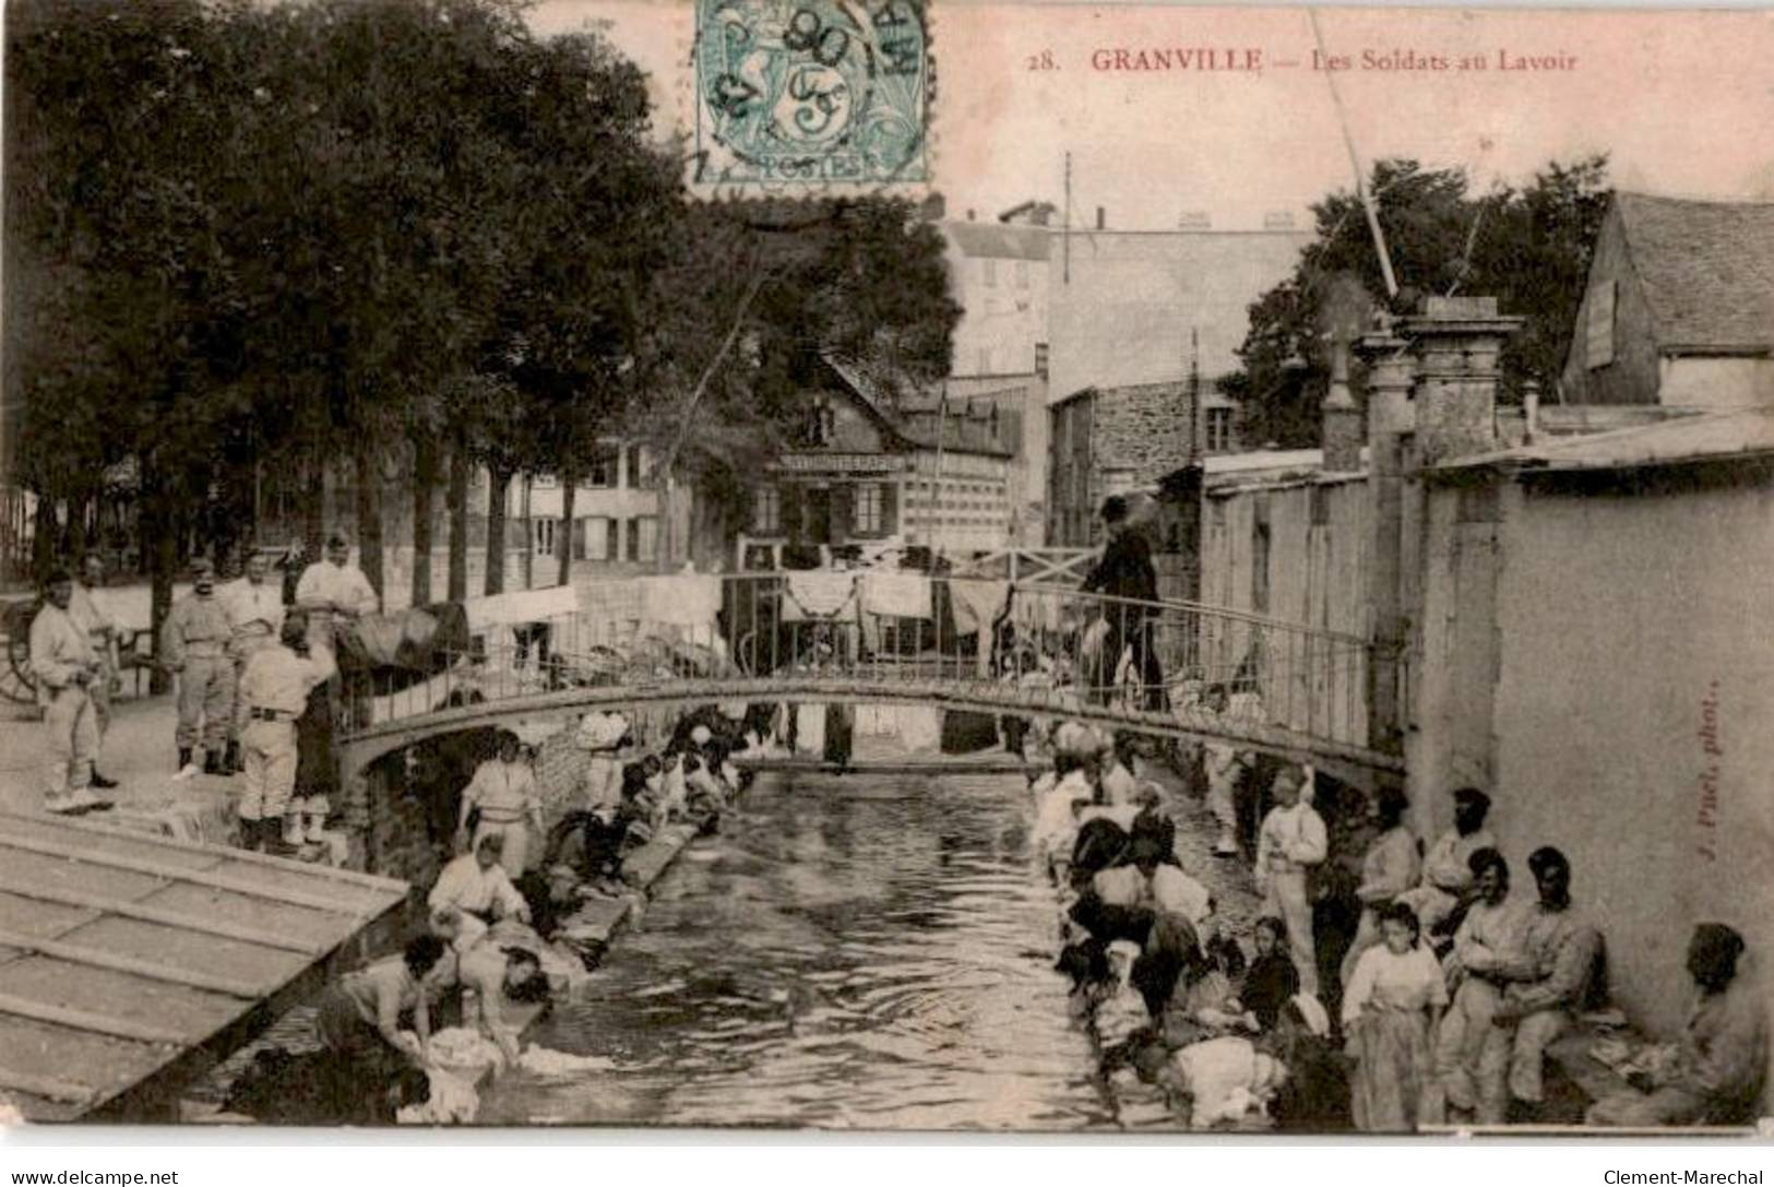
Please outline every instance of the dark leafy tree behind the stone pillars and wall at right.
M1607 158L1550 163L1524 188L1472 195L1464 170L1385 160L1370 192L1400 284L1400 305L1419 293L1480 293L1527 325L1503 351L1503 390L1527 380L1550 389L1582 298L1595 236L1607 209ZM1318 238L1293 275L1251 305L1238 351L1242 371L1221 381L1240 401L1247 440L1318 444L1329 346L1354 337L1385 305L1380 261L1355 193L1313 208ZM1359 387L1359 385L1357 385Z

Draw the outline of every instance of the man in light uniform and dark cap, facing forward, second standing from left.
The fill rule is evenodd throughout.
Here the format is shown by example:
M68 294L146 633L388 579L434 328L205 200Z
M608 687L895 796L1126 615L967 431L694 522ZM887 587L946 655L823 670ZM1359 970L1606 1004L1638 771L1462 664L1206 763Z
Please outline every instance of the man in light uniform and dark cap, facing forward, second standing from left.
M234 720L234 660L227 653L232 639L234 625L216 596L215 564L199 557L192 561L192 593L172 605L160 628L160 658L179 678L179 779L197 774L199 743L204 774L224 774L222 752Z

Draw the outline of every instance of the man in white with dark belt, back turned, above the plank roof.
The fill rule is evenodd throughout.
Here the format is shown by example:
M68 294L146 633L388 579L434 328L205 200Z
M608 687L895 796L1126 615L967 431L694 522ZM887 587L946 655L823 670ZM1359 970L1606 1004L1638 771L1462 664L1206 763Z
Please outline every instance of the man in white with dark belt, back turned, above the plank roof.
M286 836L294 832L294 821L286 825L284 813L296 788L296 719L309 694L337 671L330 649L303 656L298 648L307 648L307 623L300 614L284 619L275 644L252 653L239 678L239 696L247 699L241 843L282 855L293 852Z

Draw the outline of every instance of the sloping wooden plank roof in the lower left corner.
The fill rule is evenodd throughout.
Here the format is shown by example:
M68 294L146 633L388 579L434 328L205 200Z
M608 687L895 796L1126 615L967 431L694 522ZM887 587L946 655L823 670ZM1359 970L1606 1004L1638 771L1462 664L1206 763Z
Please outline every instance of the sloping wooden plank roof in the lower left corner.
M0 813L0 1091L32 1121L170 1121L181 1088L392 939L408 887Z

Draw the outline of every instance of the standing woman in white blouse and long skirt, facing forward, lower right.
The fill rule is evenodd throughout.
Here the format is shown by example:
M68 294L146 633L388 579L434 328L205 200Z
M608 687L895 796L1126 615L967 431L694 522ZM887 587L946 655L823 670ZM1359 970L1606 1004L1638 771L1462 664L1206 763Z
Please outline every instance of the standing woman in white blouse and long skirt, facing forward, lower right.
M1343 1034L1355 1057L1350 1107L1359 1130L1409 1132L1440 1120L1430 1034L1448 1008L1448 983L1403 903L1380 910L1380 939L1343 992Z

